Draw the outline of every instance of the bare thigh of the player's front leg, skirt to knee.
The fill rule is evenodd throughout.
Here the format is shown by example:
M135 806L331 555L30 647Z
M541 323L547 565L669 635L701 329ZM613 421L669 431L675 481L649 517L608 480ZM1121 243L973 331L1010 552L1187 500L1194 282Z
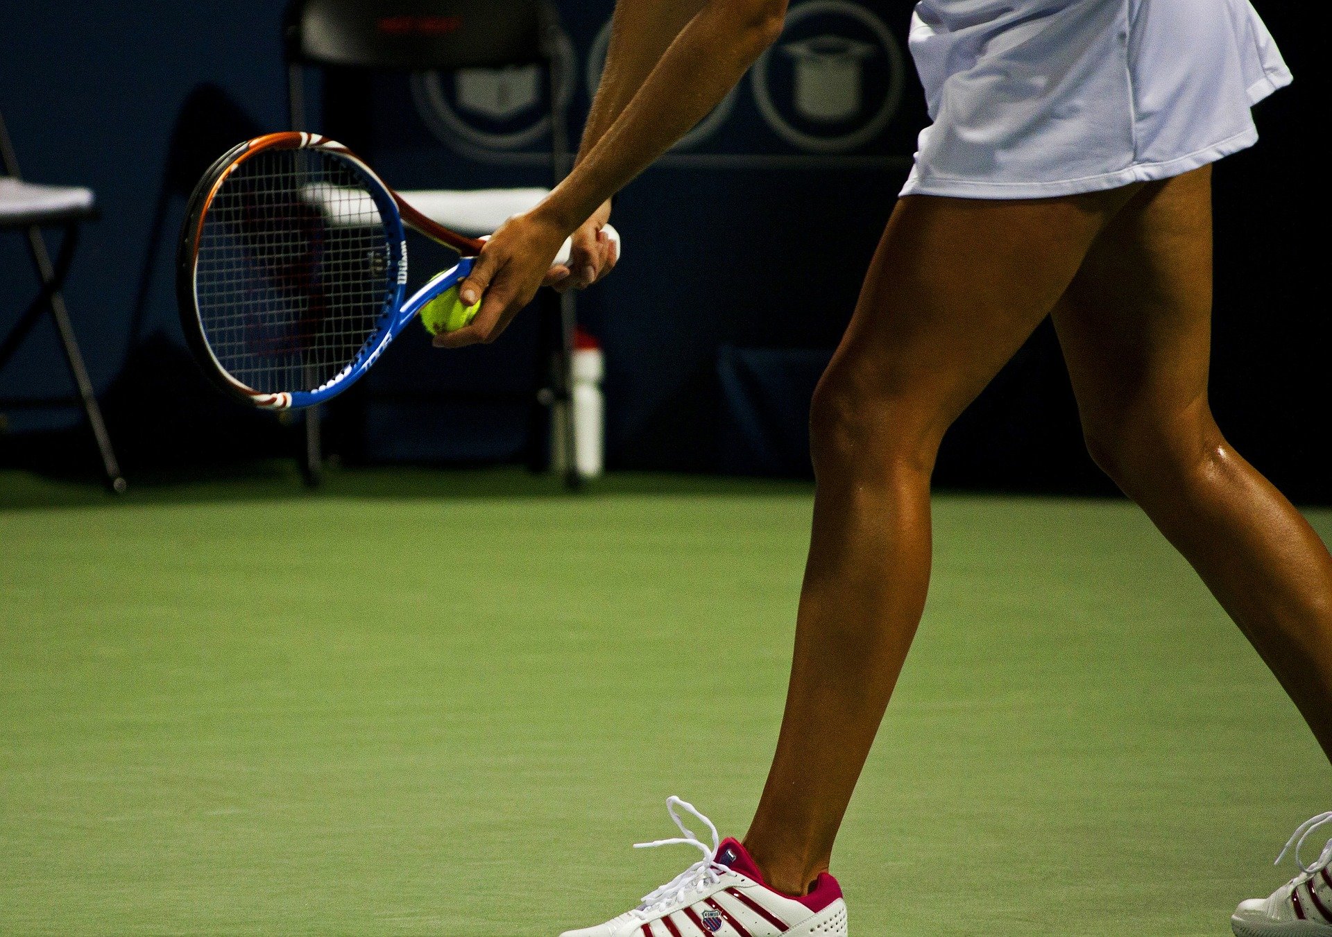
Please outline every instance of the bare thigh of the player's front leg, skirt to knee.
M1132 193L900 200L819 386L815 419L874 421L880 403L892 407L899 438L942 437L1051 311Z

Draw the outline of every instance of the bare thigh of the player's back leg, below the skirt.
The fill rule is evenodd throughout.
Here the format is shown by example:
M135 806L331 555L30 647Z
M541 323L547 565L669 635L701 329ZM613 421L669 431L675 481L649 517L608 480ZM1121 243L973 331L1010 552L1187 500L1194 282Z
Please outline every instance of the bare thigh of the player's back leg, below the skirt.
M1139 190L1095 240L1055 309L1090 442L1114 447L1134 434L1211 427L1211 311L1204 166Z

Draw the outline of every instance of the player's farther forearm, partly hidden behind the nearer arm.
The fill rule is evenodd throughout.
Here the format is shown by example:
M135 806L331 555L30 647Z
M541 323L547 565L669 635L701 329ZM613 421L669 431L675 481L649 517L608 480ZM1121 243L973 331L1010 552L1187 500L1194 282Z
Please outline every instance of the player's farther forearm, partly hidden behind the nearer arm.
M587 112L581 161L647 80L681 31L707 0L618 0L601 84Z

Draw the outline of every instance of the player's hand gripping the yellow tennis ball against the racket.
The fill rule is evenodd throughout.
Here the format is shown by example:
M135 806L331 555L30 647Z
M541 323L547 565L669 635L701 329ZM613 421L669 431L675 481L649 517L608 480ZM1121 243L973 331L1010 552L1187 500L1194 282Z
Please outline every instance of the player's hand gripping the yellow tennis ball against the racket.
M434 346L461 349L497 339L542 283L554 285L551 278L558 282L571 276L567 268L550 266L566 236L567 230L531 212L509 218L486 241L472 273L458 286L462 302L469 306L482 297L477 317L457 331L436 335Z

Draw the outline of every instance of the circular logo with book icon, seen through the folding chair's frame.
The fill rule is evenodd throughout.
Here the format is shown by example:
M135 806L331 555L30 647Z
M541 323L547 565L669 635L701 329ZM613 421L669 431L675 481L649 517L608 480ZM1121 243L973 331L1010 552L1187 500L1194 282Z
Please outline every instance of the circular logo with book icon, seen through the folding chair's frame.
M550 104L542 65L462 68L412 76L412 96L426 126L446 144L510 152L550 133ZM555 44L554 106L573 98L578 57L569 36Z

